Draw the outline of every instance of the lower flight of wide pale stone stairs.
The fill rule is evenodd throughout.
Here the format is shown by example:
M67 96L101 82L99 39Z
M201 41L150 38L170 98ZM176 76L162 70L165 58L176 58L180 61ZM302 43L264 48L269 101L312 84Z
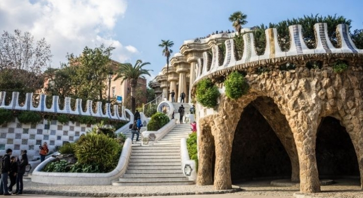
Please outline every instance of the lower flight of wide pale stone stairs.
M153 146L133 144L126 172L114 186L191 185L182 173L180 140L190 133L189 124L176 125ZM160 144L159 144L160 143Z

